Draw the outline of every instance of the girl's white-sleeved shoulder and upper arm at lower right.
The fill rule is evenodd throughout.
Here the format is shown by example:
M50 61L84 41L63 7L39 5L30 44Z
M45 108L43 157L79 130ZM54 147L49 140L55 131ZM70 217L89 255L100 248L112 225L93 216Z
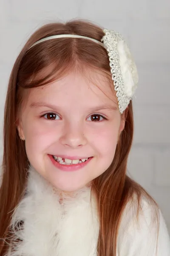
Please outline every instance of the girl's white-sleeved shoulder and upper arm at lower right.
M157 254L156 254L157 253ZM116 256L170 256L170 238L161 210L144 197L128 202L122 215Z

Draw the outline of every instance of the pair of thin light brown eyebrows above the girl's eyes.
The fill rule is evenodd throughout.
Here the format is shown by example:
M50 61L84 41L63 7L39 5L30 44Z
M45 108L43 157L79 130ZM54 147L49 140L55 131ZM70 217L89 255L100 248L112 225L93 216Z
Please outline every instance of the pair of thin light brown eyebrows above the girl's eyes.
M46 108L51 108L51 109L55 109L57 108L57 106L55 105L51 105L45 102L33 102L30 105L30 108L41 108L41 107L46 107ZM116 111L118 110L117 106L113 106L113 105L107 105L107 104L103 104L94 108L90 108L89 111L93 112L93 111L99 111L99 110L111 110L111 111Z

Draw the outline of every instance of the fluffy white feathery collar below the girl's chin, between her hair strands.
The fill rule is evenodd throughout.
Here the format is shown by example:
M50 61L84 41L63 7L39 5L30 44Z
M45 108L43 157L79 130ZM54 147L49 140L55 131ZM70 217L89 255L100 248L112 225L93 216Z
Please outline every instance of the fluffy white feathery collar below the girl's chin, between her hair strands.
M22 241L14 243L8 256L97 256L99 223L90 188L60 203L50 183L31 167L27 191L11 222L16 227L24 221L13 233Z

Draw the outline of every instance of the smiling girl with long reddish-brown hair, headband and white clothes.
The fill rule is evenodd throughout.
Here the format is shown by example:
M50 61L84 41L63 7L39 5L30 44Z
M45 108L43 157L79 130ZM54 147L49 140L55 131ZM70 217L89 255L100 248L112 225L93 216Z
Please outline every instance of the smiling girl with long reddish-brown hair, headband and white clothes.
M6 97L0 256L170 256L159 207L126 175L137 82L115 31L31 36Z

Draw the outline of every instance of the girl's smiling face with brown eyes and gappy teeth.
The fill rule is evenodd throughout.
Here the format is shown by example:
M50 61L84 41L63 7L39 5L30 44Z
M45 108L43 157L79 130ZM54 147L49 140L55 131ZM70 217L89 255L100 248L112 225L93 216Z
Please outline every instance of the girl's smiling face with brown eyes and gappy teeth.
M125 125L108 80L95 71L88 78L70 73L32 88L20 120L18 130L31 165L55 188L67 192L108 169ZM61 157L61 162L52 156Z

